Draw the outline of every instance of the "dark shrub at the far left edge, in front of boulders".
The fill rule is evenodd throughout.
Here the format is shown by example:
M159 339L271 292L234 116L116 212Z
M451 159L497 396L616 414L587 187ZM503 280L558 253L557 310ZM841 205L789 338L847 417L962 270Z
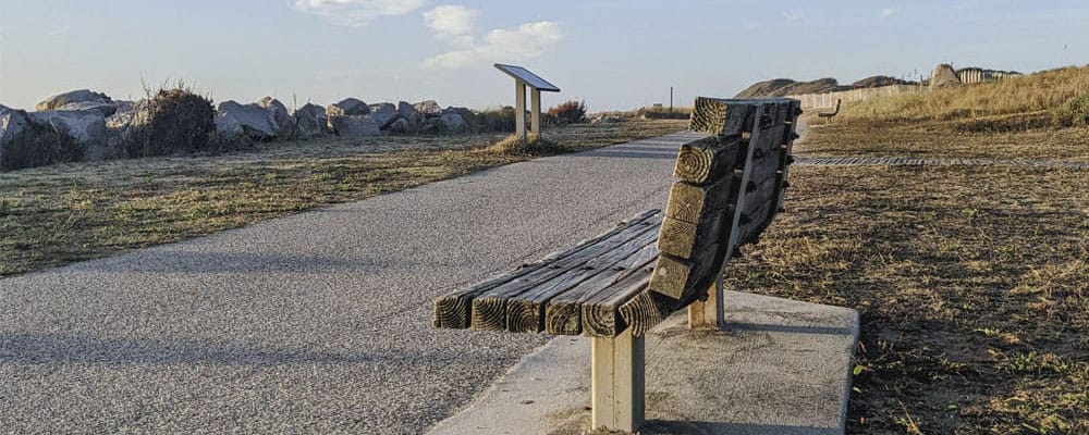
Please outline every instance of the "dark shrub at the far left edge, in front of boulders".
M83 160L84 148L63 127L27 120L3 149L0 170L19 170Z

